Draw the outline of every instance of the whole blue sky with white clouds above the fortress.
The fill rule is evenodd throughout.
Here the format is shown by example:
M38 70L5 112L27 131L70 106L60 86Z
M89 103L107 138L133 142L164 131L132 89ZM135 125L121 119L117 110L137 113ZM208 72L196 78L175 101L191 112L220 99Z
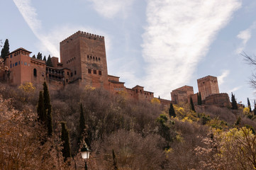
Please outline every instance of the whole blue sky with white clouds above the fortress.
M155 97L218 77L221 93L253 105L248 81L255 67L256 1L252 0L1 0L0 39L60 57L60 41L78 30L103 35L108 74Z

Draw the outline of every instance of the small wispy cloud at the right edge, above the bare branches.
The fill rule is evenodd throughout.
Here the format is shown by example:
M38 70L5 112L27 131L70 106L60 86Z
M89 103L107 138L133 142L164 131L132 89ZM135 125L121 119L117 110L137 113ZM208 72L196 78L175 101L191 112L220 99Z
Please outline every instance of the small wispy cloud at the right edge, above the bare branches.
M235 50L237 54L240 54L241 52L243 52L248 40L250 40L250 38L252 37L252 30L254 30L255 28L256 28L256 22L252 23L252 26L250 26L246 30L240 31L240 33L237 35L237 38L242 40L240 46Z

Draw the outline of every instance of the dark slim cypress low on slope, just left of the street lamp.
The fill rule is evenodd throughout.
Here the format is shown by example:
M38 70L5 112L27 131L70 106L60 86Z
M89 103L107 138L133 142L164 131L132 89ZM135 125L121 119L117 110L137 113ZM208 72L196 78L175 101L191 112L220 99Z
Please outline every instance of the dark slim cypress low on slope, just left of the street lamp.
M70 152L70 144L69 144L69 132L67 130L67 126L65 122L61 123L61 140L63 143L63 148L62 148L62 156L64 157L64 161L67 160L67 158L71 157L71 152Z

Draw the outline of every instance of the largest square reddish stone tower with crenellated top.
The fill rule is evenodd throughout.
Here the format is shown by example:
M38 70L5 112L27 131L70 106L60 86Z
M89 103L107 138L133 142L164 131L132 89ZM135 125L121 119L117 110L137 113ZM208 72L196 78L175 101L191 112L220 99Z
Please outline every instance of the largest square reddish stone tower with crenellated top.
M108 89L103 36L78 31L60 42L60 62L70 69L69 80L79 86Z

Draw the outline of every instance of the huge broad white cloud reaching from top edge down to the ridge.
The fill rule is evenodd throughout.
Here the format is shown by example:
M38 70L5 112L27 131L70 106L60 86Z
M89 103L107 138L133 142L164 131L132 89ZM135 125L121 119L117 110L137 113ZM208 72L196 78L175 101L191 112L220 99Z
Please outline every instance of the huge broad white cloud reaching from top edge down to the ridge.
M226 26L240 0L148 0L148 26L143 58L148 62L144 84L169 98L172 89L189 82L218 30ZM158 95L158 94L157 94Z

